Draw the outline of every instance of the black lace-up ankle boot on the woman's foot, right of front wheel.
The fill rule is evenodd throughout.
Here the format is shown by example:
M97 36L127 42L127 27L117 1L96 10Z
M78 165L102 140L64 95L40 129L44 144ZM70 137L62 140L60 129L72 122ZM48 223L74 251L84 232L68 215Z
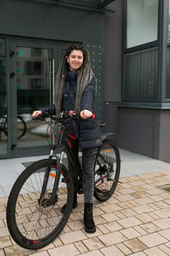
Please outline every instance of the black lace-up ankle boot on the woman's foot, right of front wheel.
M85 203L84 211L85 232L95 233L96 227L93 221L93 203Z

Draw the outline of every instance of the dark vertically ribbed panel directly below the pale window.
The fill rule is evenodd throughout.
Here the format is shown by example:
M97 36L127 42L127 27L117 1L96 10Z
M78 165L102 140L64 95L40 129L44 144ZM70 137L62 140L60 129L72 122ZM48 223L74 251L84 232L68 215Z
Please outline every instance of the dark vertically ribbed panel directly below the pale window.
M124 99L158 99L158 48L125 56Z

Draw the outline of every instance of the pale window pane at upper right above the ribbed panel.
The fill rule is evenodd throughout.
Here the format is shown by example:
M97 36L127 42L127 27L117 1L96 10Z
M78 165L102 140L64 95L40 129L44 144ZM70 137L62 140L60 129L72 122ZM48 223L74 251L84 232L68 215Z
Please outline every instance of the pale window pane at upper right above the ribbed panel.
M126 48L157 39L158 0L127 0Z

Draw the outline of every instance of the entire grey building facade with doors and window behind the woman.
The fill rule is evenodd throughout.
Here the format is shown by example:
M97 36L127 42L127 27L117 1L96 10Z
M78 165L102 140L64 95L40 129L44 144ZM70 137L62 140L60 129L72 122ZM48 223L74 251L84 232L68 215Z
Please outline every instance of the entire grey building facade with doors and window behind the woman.
M120 148L170 162L169 0L0 6L0 158L46 154L44 124L31 122L31 112L53 102L62 52L81 42L90 52L106 131L117 133Z

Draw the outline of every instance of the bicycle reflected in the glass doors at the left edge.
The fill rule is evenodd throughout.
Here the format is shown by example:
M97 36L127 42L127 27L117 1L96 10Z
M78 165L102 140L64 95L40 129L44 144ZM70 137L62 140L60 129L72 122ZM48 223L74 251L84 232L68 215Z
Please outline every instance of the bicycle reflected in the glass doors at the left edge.
M23 137L26 134L26 122L23 120L23 116L17 116L17 124L18 124L18 139ZM0 138L1 132L8 135L8 126L7 126L7 115L3 115L0 118Z

